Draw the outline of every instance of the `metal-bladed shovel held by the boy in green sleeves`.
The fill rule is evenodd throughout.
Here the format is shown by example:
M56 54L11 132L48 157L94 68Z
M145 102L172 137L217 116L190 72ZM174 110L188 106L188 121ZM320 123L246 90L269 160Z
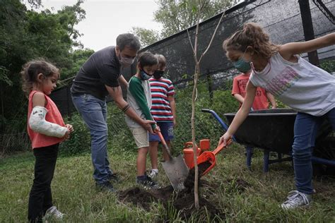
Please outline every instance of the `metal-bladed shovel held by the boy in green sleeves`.
M169 160L162 162L165 174L172 184L173 189L175 191L182 191L185 188L184 181L189 175L189 169L187 168L182 155L179 155L176 158L171 156L170 149L167 146L162 133L158 132L158 135L160 142L163 144L163 147L170 158Z

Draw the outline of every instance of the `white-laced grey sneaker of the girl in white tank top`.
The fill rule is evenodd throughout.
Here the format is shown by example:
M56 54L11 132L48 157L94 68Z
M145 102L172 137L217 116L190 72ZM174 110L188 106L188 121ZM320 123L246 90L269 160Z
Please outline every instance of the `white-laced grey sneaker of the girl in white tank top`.
M309 205L312 201L312 196L301 193L299 191L290 191L288 193L288 200L281 204L284 210L294 209L296 207Z

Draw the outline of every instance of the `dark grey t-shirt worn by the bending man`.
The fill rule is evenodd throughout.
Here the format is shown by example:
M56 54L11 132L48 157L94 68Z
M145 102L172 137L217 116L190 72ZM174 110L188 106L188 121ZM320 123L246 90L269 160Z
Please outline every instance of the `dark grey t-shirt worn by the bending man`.
M119 86L117 78L120 76L120 68L115 47L100 49L92 54L79 70L71 87L71 94L89 94L105 100L108 95L105 85Z

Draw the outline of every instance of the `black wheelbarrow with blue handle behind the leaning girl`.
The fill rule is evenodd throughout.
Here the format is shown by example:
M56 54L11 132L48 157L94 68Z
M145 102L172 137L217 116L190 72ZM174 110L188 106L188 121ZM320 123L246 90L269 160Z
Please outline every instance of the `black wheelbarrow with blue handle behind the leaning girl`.
M211 113L221 124L221 127L227 131L228 126L215 111L209 109L201 109L201 111ZM236 113L224 114L229 124L233 121L235 114ZM292 154L293 129L296 114L297 112L293 109L262 109L250 111L247 119L245 119L240 128L237 129L233 140L242 145L264 149L265 166L265 162L269 162L269 151L285 155ZM335 166L335 140L331 132L331 125L325 120L317 133L312 157L313 162ZM265 154L267 154L266 158ZM288 159L290 159L290 157ZM283 160L284 159L280 157L275 162L281 162ZM264 167L264 171L267 171L266 167Z

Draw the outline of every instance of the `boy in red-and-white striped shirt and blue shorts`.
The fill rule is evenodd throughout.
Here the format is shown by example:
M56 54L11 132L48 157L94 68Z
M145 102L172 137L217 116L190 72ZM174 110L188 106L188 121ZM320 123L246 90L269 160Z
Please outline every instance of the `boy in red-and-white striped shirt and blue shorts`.
M176 106L175 106L175 88L172 81L162 78L165 68L166 59L161 54L156 54L158 59L158 69L150 78L151 88L151 115L160 128L167 146L170 147L170 140L173 138L173 128L176 125ZM160 138L158 135L149 133L149 154L151 158L151 178L158 175L158 143ZM164 160L168 160L167 152L163 150Z

